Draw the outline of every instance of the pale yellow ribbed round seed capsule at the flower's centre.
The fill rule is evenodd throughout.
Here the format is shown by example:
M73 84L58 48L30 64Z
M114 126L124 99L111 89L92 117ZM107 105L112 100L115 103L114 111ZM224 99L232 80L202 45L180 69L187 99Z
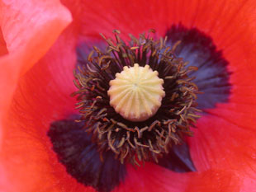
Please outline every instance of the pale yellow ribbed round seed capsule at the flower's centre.
M130 121L143 121L153 116L165 96L164 80L158 77L149 65L124 67L116 78L109 82L110 105L123 118Z

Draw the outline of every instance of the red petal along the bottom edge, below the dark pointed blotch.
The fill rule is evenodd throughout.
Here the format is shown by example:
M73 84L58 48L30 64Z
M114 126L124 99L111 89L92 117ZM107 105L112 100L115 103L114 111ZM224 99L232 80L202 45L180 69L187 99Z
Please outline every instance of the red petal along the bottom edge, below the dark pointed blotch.
M243 183L238 171L207 170L183 174L150 163L139 168L128 166L127 170L126 180L115 192L239 192Z

